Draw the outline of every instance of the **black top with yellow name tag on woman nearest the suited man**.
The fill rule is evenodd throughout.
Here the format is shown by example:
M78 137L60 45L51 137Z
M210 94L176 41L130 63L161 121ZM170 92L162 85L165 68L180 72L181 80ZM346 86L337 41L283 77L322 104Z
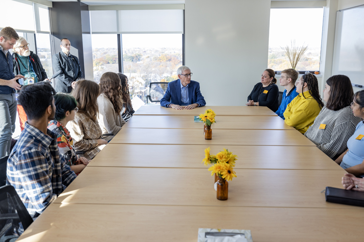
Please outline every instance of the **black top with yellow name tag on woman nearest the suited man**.
M248 101L253 100L255 103L259 103L259 106L267 106L273 112L278 110L278 95L279 89L276 84L270 84L267 87L263 87L261 82L257 83L248 96Z

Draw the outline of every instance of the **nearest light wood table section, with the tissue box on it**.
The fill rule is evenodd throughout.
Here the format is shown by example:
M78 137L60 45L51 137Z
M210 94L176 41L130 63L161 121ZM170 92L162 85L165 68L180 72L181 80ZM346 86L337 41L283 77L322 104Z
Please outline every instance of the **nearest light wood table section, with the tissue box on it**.
M363 241L364 210L57 204L17 242L197 242L199 228L250 229L254 242Z

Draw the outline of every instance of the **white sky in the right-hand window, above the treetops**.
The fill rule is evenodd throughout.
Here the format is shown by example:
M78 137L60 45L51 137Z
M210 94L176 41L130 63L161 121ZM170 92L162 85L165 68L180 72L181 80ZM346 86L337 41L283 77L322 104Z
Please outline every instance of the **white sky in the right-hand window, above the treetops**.
M296 44L320 47L322 37L323 8L271 9L269 47Z

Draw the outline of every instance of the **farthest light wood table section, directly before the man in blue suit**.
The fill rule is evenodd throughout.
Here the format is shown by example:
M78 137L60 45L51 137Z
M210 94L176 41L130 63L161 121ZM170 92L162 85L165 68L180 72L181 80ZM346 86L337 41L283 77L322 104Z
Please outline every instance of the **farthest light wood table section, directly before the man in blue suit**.
M194 109L177 110L162 106L141 106L134 115L191 115L198 116L204 113L206 109L212 109L217 116L235 115L235 116L277 116L266 106L202 106Z

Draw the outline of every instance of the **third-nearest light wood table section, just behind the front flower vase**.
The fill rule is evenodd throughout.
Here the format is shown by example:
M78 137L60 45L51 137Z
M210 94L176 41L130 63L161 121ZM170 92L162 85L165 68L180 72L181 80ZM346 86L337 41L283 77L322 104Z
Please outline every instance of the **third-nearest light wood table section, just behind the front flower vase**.
M204 150L223 148L238 156L235 168L342 170L314 146L108 144L88 166L205 168Z

